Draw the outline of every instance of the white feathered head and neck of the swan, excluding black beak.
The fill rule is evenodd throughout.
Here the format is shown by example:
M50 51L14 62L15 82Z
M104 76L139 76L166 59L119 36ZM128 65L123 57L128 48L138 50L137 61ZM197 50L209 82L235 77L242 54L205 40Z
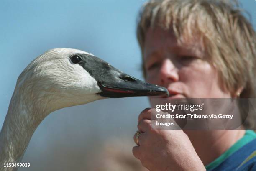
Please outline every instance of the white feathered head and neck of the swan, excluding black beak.
M18 77L0 133L0 166L21 160L33 132L49 113L103 98L97 95L101 91L97 81L70 61L75 53L89 54L77 49L51 49L33 60ZM16 168L0 168L6 170Z

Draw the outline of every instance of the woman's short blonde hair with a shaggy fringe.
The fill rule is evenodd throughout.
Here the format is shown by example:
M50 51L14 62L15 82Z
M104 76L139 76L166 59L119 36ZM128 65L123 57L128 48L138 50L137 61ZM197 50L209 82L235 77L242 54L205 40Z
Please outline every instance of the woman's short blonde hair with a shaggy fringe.
M172 30L179 43L199 34L225 89L244 87L242 98L256 97L256 34L238 7L228 0L150 0L138 21L141 51L149 28Z

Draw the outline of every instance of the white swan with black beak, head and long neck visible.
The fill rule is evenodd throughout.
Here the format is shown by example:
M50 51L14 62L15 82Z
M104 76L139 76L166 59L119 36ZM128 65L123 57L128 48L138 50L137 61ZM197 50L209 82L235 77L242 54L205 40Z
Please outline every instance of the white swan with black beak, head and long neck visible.
M34 59L18 77L0 132L0 171L19 163L38 125L51 112L104 98L167 95L164 87L140 81L96 56L54 48Z

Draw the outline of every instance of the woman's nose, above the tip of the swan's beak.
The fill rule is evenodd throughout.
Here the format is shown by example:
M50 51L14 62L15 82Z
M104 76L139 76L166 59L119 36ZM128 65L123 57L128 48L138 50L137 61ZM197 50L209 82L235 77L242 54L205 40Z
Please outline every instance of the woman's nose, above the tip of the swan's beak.
M159 74L162 86L167 86L166 83L177 82L179 80L177 68L170 59L165 59L162 62Z

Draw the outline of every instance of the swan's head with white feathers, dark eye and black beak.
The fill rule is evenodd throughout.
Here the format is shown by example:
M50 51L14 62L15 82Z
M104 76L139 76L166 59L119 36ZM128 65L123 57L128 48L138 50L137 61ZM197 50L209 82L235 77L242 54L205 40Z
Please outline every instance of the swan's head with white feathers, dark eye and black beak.
M164 87L140 81L90 53L70 48L55 48L38 56L20 74L16 89L25 101L47 104L52 110L103 98L168 95Z

